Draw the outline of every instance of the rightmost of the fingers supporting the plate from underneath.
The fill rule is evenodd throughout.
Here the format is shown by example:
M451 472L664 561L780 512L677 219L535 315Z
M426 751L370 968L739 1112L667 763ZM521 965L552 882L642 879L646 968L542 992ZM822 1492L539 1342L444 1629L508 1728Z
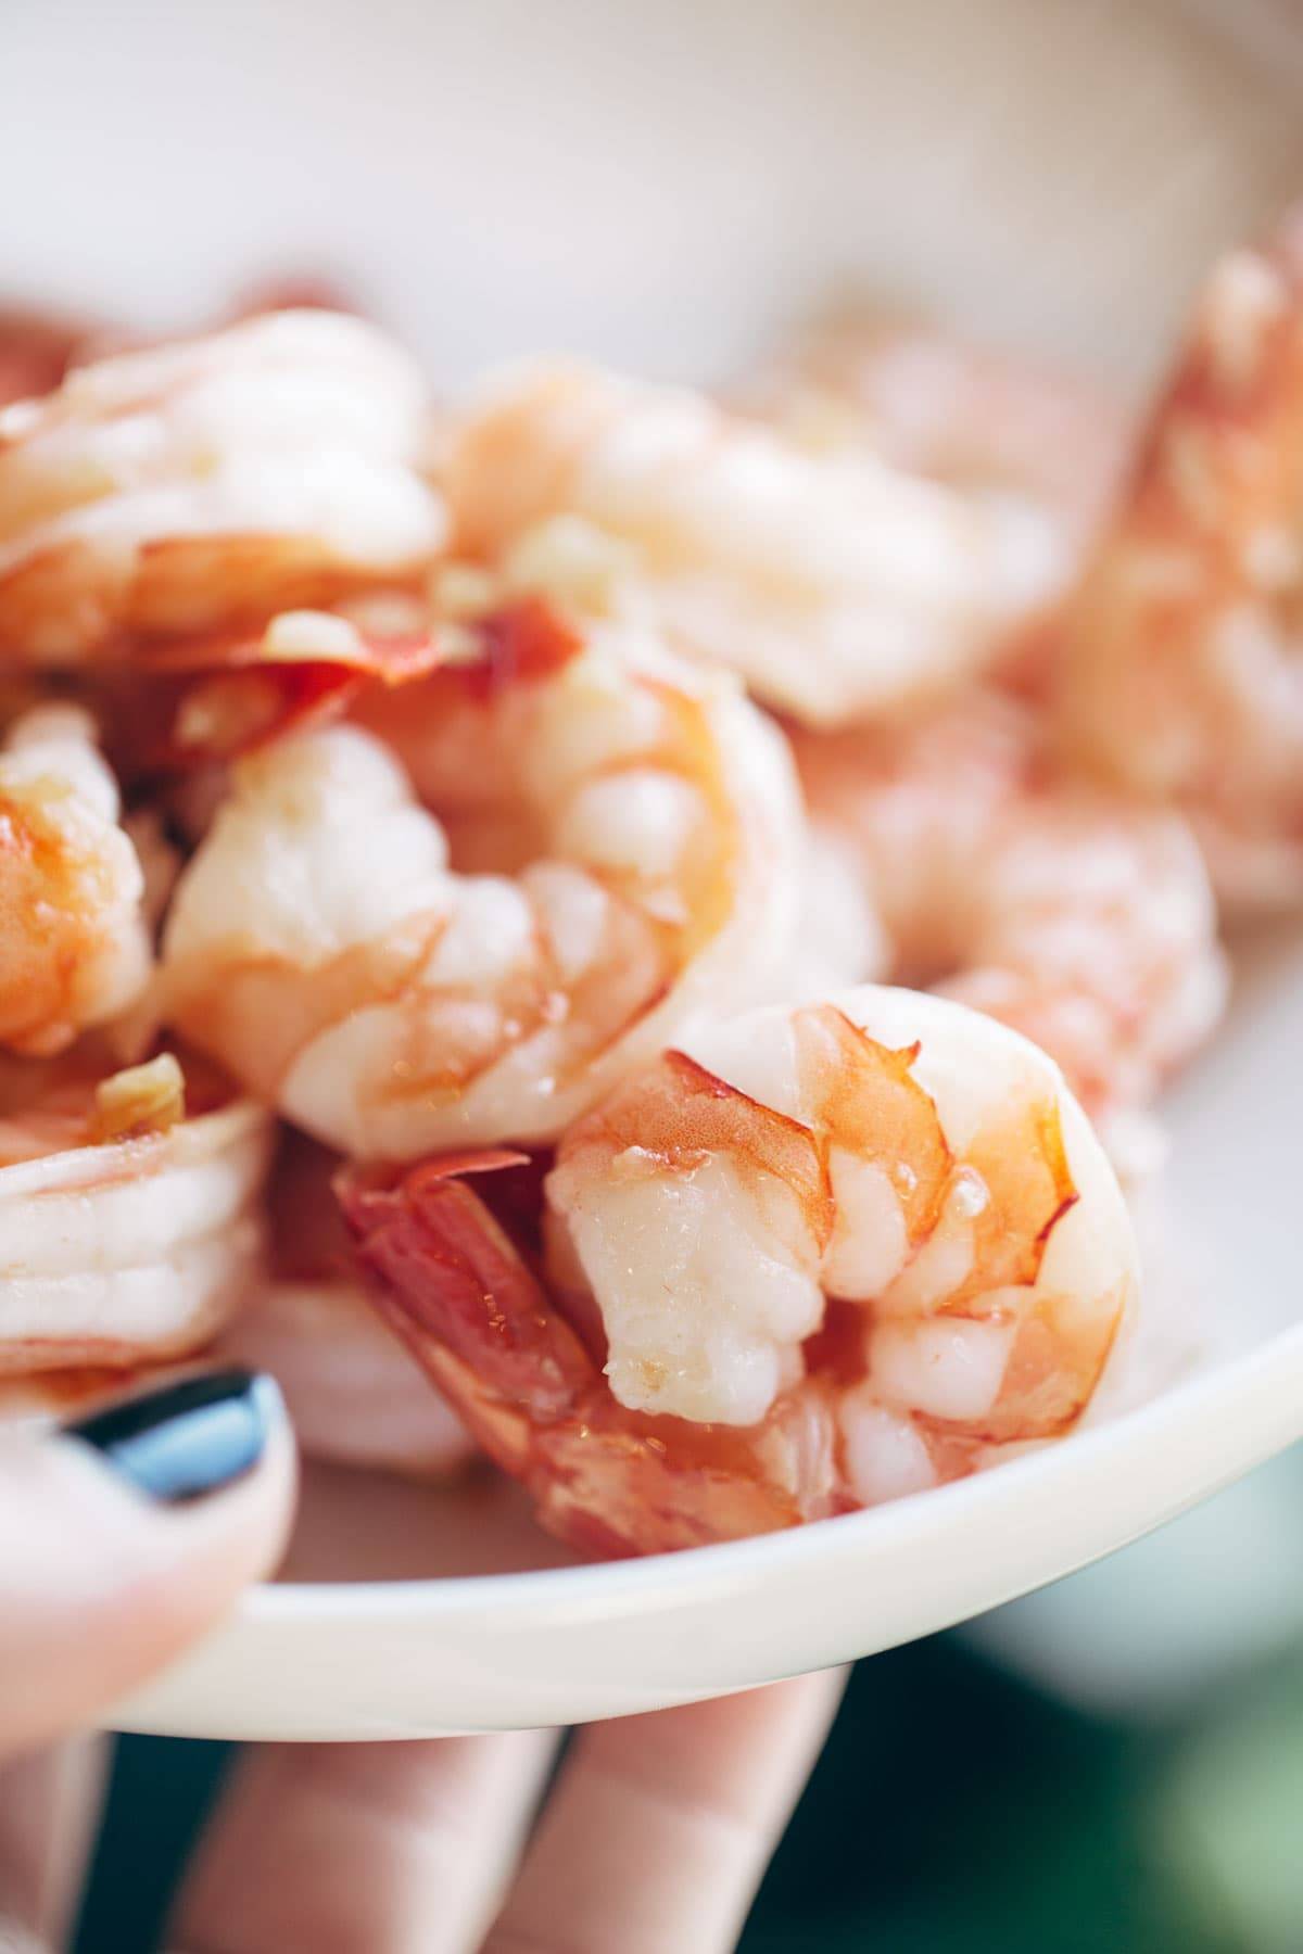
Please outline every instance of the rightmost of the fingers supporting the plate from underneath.
M844 1680L797 1677L586 1729L484 1954L733 1948Z

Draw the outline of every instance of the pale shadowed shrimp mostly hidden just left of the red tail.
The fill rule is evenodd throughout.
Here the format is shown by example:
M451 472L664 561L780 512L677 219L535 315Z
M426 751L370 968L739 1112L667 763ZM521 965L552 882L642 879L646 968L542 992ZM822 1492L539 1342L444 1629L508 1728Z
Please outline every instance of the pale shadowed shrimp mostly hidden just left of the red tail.
M465 1426L367 1303L330 1194L338 1159L285 1133L270 1196L270 1280L217 1356L270 1372L301 1452L443 1475L475 1456Z

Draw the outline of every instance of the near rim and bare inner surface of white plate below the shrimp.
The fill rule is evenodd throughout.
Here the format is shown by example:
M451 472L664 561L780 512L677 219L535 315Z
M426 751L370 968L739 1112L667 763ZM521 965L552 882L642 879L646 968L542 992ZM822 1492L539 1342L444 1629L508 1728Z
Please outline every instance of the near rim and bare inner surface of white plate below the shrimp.
M1184 1380L1125 1411L1135 1376L1123 1372L1090 1430L977 1479L617 1565L567 1565L516 1491L488 1479L440 1493L316 1469L287 1583L250 1594L117 1721L205 1737L408 1737L713 1696L1010 1600L1291 1444L1303 1436L1303 936L1260 940L1240 957L1237 993L1221 1041L1172 1104L1151 1256L1139 1354L1158 1372L1186 1368Z

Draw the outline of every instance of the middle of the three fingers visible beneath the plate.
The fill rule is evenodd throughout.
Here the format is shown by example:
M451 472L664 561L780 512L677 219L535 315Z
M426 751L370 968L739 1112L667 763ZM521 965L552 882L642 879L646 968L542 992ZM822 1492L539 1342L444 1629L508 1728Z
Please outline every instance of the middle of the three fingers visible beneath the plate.
M520 1852L555 1735L275 1745L242 1764L186 1884L180 1954L465 1954Z

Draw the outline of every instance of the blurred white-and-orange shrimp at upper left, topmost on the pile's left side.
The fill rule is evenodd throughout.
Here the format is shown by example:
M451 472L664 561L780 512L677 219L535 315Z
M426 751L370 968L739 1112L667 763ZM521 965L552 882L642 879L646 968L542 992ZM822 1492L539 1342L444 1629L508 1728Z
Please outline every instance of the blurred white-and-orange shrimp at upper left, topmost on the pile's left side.
M279 313L0 412L0 655L74 664L418 578L426 397L371 326Z

